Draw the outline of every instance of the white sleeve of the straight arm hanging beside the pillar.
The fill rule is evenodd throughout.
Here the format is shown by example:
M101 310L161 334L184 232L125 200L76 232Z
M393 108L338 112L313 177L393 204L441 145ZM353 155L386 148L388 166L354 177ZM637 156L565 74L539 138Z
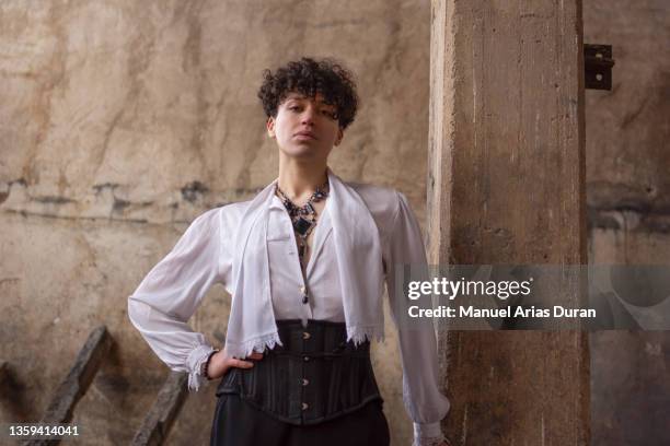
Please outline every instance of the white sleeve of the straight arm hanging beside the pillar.
M398 329L403 365L403 400L414 421L414 444L432 444L442 438L440 420L449 411L449 400L438 386L437 340L432 324L406 327L398 322L395 274L398 266L426 266L421 233L407 199L397 193L398 207L391 232L386 259L386 289L391 314ZM420 365L419 365L420 364Z

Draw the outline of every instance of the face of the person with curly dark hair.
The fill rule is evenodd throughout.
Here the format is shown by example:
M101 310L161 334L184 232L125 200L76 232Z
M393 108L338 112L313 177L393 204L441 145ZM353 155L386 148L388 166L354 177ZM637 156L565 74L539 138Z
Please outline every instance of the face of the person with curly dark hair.
M267 132L286 156L321 161L344 136L335 107L325 104L321 93L315 97L289 93L277 116L267 120Z

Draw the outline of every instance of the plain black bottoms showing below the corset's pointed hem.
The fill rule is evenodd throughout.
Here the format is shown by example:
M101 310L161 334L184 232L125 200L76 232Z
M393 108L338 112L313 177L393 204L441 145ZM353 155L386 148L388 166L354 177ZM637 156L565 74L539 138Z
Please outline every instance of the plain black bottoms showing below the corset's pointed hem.
M380 400L320 424L284 423L240 396L219 397L210 446L389 446L389 424Z

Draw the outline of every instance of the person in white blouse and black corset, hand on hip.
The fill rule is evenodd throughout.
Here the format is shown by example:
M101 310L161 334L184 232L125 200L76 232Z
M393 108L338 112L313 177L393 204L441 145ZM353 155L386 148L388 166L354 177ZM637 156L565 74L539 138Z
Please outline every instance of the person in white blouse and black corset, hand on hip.
M384 280L426 263L418 224L402 193L327 165L359 101L342 63L265 70L258 97L278 178L198 216L129 296L129 318L189 389L221 378L211 445L389 445L370 341L383 338ZM232 295L221 351L187 325L213 283ZM448 445L435 331L398 339L414 444Z

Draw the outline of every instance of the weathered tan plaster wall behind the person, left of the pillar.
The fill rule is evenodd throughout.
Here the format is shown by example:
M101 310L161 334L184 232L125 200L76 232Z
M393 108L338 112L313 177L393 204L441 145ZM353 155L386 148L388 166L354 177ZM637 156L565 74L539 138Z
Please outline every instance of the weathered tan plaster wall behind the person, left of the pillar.
M274 178L264 68L313 55L357 72L362 107L332 166L396 187L423 215L428 22L428 2L400 0L2 1L0 359L20 391L0 421L39 419L105 324L115 345L74 422L96 444L131 438L168 369L126 298L196 215ZM220 338L229 302L215 286L193 327ZM407 444L393 336L374 362ZM192 395L170 443L206 443L213 404L213 386Z

